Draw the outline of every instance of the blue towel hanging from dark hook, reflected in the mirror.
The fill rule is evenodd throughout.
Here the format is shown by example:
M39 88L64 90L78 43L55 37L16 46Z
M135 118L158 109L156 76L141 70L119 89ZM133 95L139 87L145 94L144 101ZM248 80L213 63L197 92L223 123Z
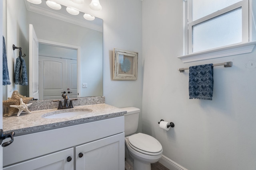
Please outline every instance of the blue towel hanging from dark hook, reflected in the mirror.
M20 56L16 59L14 74L15 74L15 84L22 85L22 86L28 85L26 63L25 63L25 60Z

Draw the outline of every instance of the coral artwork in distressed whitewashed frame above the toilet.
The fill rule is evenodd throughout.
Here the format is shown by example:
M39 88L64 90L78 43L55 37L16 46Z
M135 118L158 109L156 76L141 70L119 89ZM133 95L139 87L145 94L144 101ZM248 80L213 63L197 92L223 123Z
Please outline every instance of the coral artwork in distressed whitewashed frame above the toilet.
M113 50L113 80L137 80L138 53Z

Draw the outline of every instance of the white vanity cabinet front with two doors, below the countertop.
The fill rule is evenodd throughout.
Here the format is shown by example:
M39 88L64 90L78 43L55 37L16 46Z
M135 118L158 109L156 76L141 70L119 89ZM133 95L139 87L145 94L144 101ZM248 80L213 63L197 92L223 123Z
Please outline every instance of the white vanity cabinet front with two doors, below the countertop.
M124 170L124 116L14 136L3 148L3 165L4 170Z

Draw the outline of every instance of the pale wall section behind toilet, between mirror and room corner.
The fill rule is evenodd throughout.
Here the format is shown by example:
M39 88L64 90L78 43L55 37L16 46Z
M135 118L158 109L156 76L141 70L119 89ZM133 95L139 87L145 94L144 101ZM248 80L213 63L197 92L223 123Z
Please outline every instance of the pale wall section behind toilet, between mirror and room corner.
M103 19L103 94L106 104L142 109L142 1L101 0ZM138 79L112 80L113 48L138 52ZM140 131L139 127L139 131Z

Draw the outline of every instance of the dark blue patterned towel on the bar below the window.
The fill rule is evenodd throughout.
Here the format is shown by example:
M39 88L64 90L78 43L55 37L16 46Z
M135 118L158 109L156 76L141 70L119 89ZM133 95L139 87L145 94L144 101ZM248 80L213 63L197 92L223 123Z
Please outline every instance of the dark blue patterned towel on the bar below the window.
M189 67L189 98L212 100L213 64Z

